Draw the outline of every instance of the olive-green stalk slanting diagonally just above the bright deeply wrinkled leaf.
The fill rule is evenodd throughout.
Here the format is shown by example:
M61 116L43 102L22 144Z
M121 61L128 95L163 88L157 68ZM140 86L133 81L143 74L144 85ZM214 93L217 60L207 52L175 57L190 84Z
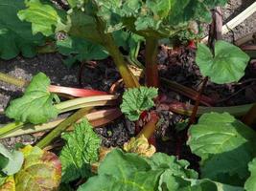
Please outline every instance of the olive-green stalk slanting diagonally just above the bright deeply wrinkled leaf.
M72 116L67 117L57 126L57 128L51 131L45 138L42 138L35 146L41 149L45 148L52 142L53 139L58 138L58 136L62 132L64 132L69 126L71 126L81 117L84 117L84 115L87 114L89 110L90 110L89 108L82 108Z

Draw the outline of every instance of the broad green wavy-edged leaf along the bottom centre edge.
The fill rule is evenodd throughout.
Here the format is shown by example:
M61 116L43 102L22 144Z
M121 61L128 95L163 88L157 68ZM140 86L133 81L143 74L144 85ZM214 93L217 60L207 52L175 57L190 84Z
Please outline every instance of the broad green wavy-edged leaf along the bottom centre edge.
M79 191L168 190L165 189L165 185L171 183L171 177L177 188L183 188L184 182L186 186L191 185L190 181L184 179L198 178L198 173L188 169L188 165L188 161L177 160L162 153L155 153L151 158L143 158L115 149L108 153L100 164L98 176L87 180Z

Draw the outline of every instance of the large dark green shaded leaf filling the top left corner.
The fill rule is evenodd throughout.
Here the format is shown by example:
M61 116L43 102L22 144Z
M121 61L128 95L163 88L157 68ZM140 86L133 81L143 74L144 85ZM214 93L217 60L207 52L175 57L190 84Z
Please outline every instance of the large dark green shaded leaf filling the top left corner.
M32 34L30 23L18 19L17 11L24 8L23 1L0 2L0 58L11 59L19 53L32 57L35 55L35 47L44 42L42 35Z

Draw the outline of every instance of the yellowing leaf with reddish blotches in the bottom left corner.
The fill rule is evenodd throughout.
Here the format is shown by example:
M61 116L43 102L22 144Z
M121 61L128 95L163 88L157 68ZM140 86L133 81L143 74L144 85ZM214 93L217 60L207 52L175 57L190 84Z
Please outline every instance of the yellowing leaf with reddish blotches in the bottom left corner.
M25 160L15 174L18 191L57 190L61 179L61 164L51 152L30 145L22 149Z

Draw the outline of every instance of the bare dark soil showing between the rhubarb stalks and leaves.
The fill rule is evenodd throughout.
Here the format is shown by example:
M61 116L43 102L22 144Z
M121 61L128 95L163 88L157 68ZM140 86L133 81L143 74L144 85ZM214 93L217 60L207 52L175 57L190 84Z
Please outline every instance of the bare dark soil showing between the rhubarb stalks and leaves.
M230 0L228 5L223 9L224 22L229 21L241 11L244 11L253 2L254 0ZM233 32L228 32L224 35L224 38L232 42L250 32L256 32L256 12L234 29ZM183 49L179 53L169 54L161 51L159 56L161 75L183 85L198 89L202 78L194 63L194 51ZM109 59L99 62L96 65L94 62L91 62L90 64L84 65L82 70L79 65L72 69L66 67L62 64L62 59L63 57L58 53L39 54L34 58L18 56L9 61L0 60L0 72L12 74L15 77L27 80L30 80L38 72L43 72L51 78L53 84L102 91L108 91L110 85L120 77ZM246 79L253 77L253 75L256 76L255 74L248 68ZM82 76L81 81L79 76ZM244 88L244 85L247 87ZM244 90L240 91L242 87ZM190 101L168 89L162 89L162 92L167 93L168 96L172 96L177 100ZM239 93L236 94L237 92ZM11 99L20 96L21 93L21 89L0 82L0 111L1 108L4 109L8 105ZM223 101L219 105L243 104L245 102L255 101L256 84L251 81L250 83L242 83L242 85L216 86L216 84L209 82L205 94L220 100L222 99ZM253 94L255 96L251 96ZM224 100L228 96L232 96L232 98ZM176 133L175 130L176 123L182 121L185 117L169 111L160 111L159 116L162 118L162 125L156 133L157 150L170 155L178 155L181 159L189 159L192 161L193 166L197 168L198 159L192 156L189 149L185 146L186 133L184 131ZM5 124L8 121L10 121L8 118L0 115L0 124ZM121 146L128 138L134 135L135 124L129 122L125 117L121 117L105 127L97 128L95 131L103 138L103 144L105 146ZM36 140L37 138L33 135L26 135L18 138L1 139L0 142L12 147L16 142L32 144Z

